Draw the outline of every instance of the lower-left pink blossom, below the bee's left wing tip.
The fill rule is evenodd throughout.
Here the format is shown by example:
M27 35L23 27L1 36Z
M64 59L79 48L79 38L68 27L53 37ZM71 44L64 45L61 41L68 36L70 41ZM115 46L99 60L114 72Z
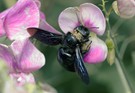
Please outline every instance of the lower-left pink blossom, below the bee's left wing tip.
M0 58L9 67L9 72L18 84L34 82L30 73L45 64L44 55L28 40L15 40L10 46L0 44Z

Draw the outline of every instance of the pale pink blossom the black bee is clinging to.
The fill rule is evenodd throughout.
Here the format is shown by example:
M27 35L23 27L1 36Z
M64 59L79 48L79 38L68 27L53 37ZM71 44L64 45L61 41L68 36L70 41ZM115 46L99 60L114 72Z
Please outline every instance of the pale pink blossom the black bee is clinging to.
M92 41L89 51L83 56L87 63L103 62L107 56L107 46L97 35L103 35L106 22L101 10L91 3L81 4L79 7L69 7L62 11L58 19L59 26L64 33L73 31L83 25L90 30Z

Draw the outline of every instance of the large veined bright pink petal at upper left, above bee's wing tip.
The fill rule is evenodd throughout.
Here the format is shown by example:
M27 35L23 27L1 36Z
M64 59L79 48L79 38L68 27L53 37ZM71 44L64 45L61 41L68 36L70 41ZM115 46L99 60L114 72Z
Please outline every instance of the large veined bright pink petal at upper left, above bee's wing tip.
M39 26L39 8L33 0L19 0L8 12L4 22L10 40L29 37L26 29Z

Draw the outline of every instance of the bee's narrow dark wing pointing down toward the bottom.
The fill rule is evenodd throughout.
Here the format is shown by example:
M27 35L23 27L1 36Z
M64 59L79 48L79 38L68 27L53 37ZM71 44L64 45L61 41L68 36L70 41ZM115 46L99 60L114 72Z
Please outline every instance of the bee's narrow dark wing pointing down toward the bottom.
M82 59L79 46L76 47L75 52L76 52L75 63L74 63L75 70L78 73L78 75L81 77L82 81L86 84L89 84L89 75L83 64L84 62Z

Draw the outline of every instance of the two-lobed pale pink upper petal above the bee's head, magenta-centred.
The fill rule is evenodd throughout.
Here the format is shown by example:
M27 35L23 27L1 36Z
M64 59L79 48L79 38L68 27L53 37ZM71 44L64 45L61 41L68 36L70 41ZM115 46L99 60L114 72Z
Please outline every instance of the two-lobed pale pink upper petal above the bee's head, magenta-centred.
M97 6L91 3L65 9L60 14L58 21L60 28L65 33L73 31L79 25L84 25L92 32L103 35L106 27L103 13Z

